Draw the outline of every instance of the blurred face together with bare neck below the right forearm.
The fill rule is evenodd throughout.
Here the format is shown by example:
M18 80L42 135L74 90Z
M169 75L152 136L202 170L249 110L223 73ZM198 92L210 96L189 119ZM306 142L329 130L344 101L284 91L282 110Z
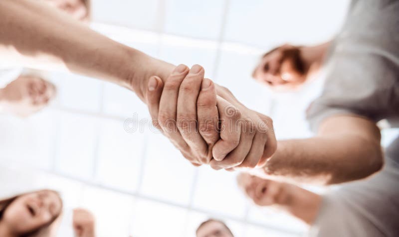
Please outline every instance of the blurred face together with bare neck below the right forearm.
M276 206L312 225L321 196L292 184L261 179L246 173L237 177L238 186L258 206Z

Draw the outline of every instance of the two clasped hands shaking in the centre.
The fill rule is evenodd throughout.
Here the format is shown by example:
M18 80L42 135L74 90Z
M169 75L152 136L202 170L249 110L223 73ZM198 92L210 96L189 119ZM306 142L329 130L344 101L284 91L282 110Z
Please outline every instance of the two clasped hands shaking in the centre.
M272 120L249 110L204 69L181 64L148 79L145 100L159 128L193 165L235 170L265 164L276 150Z

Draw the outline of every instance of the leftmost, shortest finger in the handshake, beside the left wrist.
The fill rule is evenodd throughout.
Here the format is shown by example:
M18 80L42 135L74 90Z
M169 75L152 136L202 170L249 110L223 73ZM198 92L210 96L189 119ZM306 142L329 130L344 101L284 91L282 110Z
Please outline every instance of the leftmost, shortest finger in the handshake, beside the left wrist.
M158 113L163 88L164 83L162 82L161 78L153 76L148 80L147 106L148 110L150 111L152 122L158 129L161 129L158 121Z

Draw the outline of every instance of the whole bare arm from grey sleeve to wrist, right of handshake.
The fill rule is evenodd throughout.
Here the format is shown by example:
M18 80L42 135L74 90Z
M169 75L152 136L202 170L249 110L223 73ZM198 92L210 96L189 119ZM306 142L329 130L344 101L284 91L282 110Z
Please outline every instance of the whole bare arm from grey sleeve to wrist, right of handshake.
M382 168L380 139L373 121L333 116L321 123L315 137L278 141L276 153L258 174L319 184L361 179Z

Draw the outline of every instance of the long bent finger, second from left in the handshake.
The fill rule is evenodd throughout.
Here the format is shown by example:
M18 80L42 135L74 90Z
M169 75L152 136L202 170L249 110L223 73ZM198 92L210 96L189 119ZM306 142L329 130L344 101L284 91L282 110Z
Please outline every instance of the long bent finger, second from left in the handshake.
M165 81L159 104L158 119L160 126L164 134L170 138L174 145L180 150L190 149L176 125L179 88L188 72L189 68L183 64L175 68Z

